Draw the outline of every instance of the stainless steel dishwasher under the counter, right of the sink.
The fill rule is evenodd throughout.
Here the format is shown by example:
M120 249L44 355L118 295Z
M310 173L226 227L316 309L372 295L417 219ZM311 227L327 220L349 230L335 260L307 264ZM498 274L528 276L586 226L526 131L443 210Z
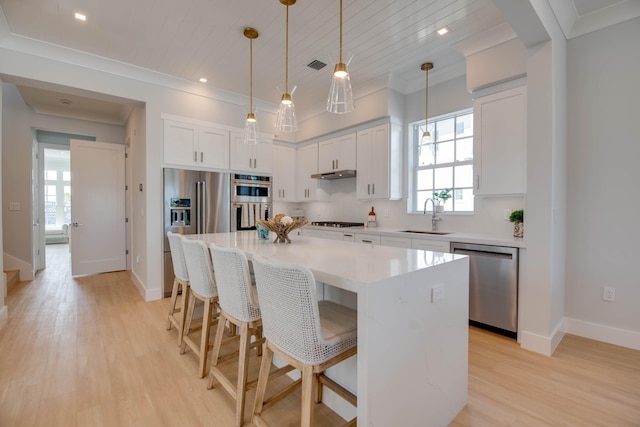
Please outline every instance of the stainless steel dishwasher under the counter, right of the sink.
M451 252L469 256L469 322L515 338L518 248L451 242Z

